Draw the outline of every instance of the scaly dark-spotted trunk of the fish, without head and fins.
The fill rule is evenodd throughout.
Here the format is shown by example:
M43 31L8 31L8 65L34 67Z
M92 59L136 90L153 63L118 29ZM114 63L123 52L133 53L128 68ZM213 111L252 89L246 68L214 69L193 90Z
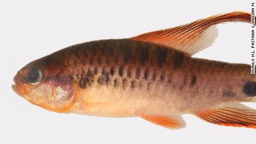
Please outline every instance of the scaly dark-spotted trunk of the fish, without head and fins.
M248 96L235 87L253 78L244 75L250 71L247 64L191 58L175 49L130 39L77 44L49 57L59 58L57 66L79 93L71 112L95 116L169 115L247 101ZM88 103L104 106L90 108Z

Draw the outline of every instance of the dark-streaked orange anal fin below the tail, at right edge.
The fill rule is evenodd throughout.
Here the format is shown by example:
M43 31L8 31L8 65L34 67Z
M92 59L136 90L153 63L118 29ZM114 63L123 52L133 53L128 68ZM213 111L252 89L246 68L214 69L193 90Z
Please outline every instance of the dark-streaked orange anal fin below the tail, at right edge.
M224 104L195 115L216 125L256 128L256 110L240 103Z

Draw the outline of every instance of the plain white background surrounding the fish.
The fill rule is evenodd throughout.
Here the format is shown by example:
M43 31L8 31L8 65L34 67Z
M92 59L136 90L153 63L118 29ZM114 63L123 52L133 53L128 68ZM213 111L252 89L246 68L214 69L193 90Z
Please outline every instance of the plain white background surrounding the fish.
M250 2L0 1L0 143L256 143L255 129L216 126L193 115L183 115L187 127L169 130L141 118L49 112L11 89L19 68L58 49L250 11ZM219 24L218 29L213 46L194 57L249 64L250 24Z

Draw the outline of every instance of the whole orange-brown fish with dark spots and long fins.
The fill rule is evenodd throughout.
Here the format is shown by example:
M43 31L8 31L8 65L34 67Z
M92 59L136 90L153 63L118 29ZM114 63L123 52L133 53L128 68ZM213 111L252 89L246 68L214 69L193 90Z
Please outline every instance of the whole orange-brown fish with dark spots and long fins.
M192 57L218 36L216 24L250 23L229 12L131 38L75 44L22 67L12 89L58 113L141 117L172 130L191 114L220 126L256 128L250 65Z

